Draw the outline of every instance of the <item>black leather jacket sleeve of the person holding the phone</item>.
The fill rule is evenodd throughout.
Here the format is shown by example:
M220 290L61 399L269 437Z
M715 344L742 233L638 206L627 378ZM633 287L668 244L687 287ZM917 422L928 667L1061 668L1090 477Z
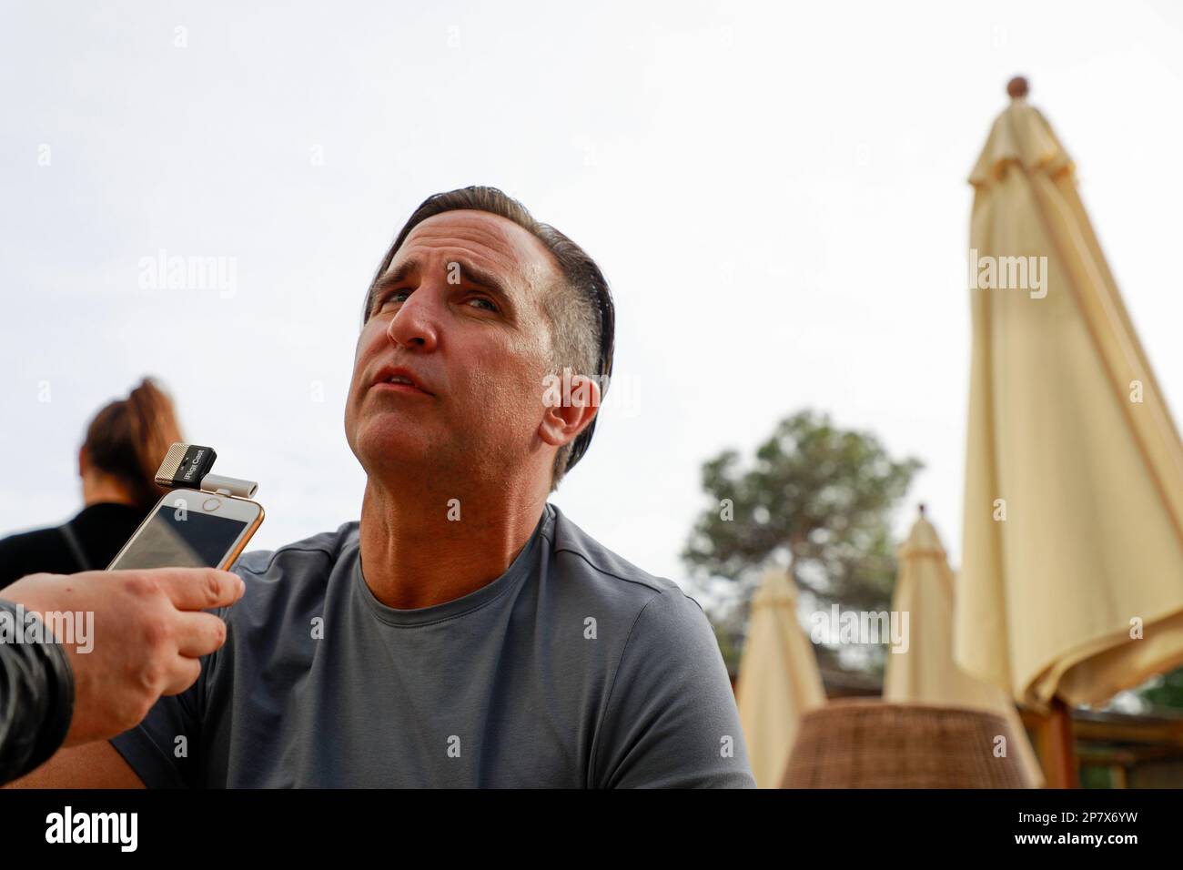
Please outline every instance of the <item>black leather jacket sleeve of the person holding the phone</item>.
M47 761L73 718L70 658L49 630L44 643L17 643L26 617L38 619L0 600L0 785Z

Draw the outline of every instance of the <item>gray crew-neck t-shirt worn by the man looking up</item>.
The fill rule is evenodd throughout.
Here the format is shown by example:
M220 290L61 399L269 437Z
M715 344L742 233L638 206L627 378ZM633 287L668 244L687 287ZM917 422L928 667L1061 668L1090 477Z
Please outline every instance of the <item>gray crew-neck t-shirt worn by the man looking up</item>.
M356 521L233 571L226 644L111 740L149 787L756 787L702 607L552 504L431 607L374 597Z

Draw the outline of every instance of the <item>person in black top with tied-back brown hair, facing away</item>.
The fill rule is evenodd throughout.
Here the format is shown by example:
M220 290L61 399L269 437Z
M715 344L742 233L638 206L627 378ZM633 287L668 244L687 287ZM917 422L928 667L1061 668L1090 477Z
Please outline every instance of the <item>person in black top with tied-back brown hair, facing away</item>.
M102 569L167 490L156 470L183 440L168 395L150 378L101 410L78 451L83 509L62 526L0 540L0 586L26 574Z

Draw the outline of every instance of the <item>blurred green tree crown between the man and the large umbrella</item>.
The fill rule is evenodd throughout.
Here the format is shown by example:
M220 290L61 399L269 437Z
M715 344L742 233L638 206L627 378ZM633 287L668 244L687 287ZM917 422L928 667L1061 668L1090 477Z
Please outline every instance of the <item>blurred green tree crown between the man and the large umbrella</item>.
M697 579L726 578L745 591L778 565L821 606L887 610L896 576L891 511L920 468L918 459L890 457L871 433L801 411L776 426L746 468L735 450L703 464L710 507L683 561ZM730 626L744 624L746 612L745 600Z

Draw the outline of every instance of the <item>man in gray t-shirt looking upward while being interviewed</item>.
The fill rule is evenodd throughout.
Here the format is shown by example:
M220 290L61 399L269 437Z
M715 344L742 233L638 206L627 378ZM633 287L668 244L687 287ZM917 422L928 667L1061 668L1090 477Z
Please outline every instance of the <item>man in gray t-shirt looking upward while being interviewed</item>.
M754 788L703 608L548 501L614 335L568 237L496 188L429 196L362 314L360 522L239 559L198 683L30 784Z

